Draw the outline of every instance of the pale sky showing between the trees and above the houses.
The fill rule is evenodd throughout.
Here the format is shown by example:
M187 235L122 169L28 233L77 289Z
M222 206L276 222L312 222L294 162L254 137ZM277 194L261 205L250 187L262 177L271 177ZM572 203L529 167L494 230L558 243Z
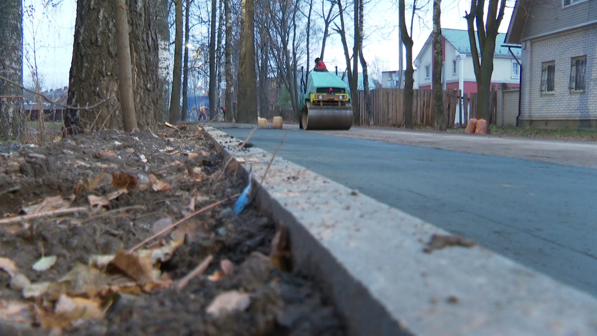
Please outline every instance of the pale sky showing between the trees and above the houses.
M365 8L365 35L368 36L364 44L364 54L368 62L374 57L387 60L389 69L398 70L398 11L392 0L377 1L374 8ZM72 59L73 31L75 28L76 0L63 0L59 8L53 9L51 15L42 14L41 0L24 0L23 5L35 4L33 16L23 18L24 60L23 80L26 85L32 83L29 71L33 64L33 41L35 37L36 57L39 73L42 75L42 88L59 88L68 85L70 60ZM407 4L408 4L407 0ZM431 1L432 2L432 1ZM442 1L442 28L466 29L464 11L470 8L470 2ZM371 4L372 2L370 2ZM510 22L512 9L507 8L500 32L506 32ZM49 20L49 21L48 21ZM410 21L407 19L407 21ZM408 23L407 23L408 25ZM432 13L424 13L414 24L413 57L416 57L432 30ZM331 41L330 41L331 40ZM344 55L340 39L332 36L328 39L325 51L325 61L328 69L338 66L343 70Z

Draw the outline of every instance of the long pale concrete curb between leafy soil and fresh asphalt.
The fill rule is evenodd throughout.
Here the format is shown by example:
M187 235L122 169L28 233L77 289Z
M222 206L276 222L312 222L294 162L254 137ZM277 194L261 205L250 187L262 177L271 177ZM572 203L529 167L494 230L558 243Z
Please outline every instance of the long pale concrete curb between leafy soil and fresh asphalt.
M224 157L241 143L206 130ZM271 155L236 157L259 188ZM424 253L447 233L282 158L257 202L287 225L297 270L324 283L351 335L597 335L590 295L478 246Z

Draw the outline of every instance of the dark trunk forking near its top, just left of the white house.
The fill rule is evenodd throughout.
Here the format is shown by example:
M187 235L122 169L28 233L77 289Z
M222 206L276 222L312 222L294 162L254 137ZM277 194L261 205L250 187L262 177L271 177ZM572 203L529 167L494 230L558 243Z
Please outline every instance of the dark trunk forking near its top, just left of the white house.
M413 33L414 11L417 8L417 0L413 2L413 14L411 16L411 30ZM406 4L405 0L398 1L398 16L400 25L400 37L402 44L407 50L407 74L404 83L404 127L413 129L413 38L407 30Z

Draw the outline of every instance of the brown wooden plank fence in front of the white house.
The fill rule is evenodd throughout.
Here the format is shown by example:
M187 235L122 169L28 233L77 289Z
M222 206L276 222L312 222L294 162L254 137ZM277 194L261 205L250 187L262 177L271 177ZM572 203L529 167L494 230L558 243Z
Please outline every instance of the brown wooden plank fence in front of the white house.
M371 90L371 107L375 126L401 127L404 123L404 89L378 88ZM361 125L367 124L365 109L365 93L359 91L359 111ZM471 93L460 96L457 90L444 91L444 116L446 127L453 128L458 120L460 127L466 126L470 118L477 115L477 94ZM497 91L490 93L490 115L488 123L497 123ZM413 90L413 124L419 126L435 126L433 113L433 90Z

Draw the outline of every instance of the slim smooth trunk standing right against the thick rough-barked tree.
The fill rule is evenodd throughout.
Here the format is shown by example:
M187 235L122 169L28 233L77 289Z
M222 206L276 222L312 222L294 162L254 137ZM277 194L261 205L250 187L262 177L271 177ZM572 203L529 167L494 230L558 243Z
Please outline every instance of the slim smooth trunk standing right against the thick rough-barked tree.
M128 39L127 6L125 0L113 0L116 22L116 46L118 49L118 87L124 130L128 133L139 130L133 95L133 70L131 69L131 48Z

